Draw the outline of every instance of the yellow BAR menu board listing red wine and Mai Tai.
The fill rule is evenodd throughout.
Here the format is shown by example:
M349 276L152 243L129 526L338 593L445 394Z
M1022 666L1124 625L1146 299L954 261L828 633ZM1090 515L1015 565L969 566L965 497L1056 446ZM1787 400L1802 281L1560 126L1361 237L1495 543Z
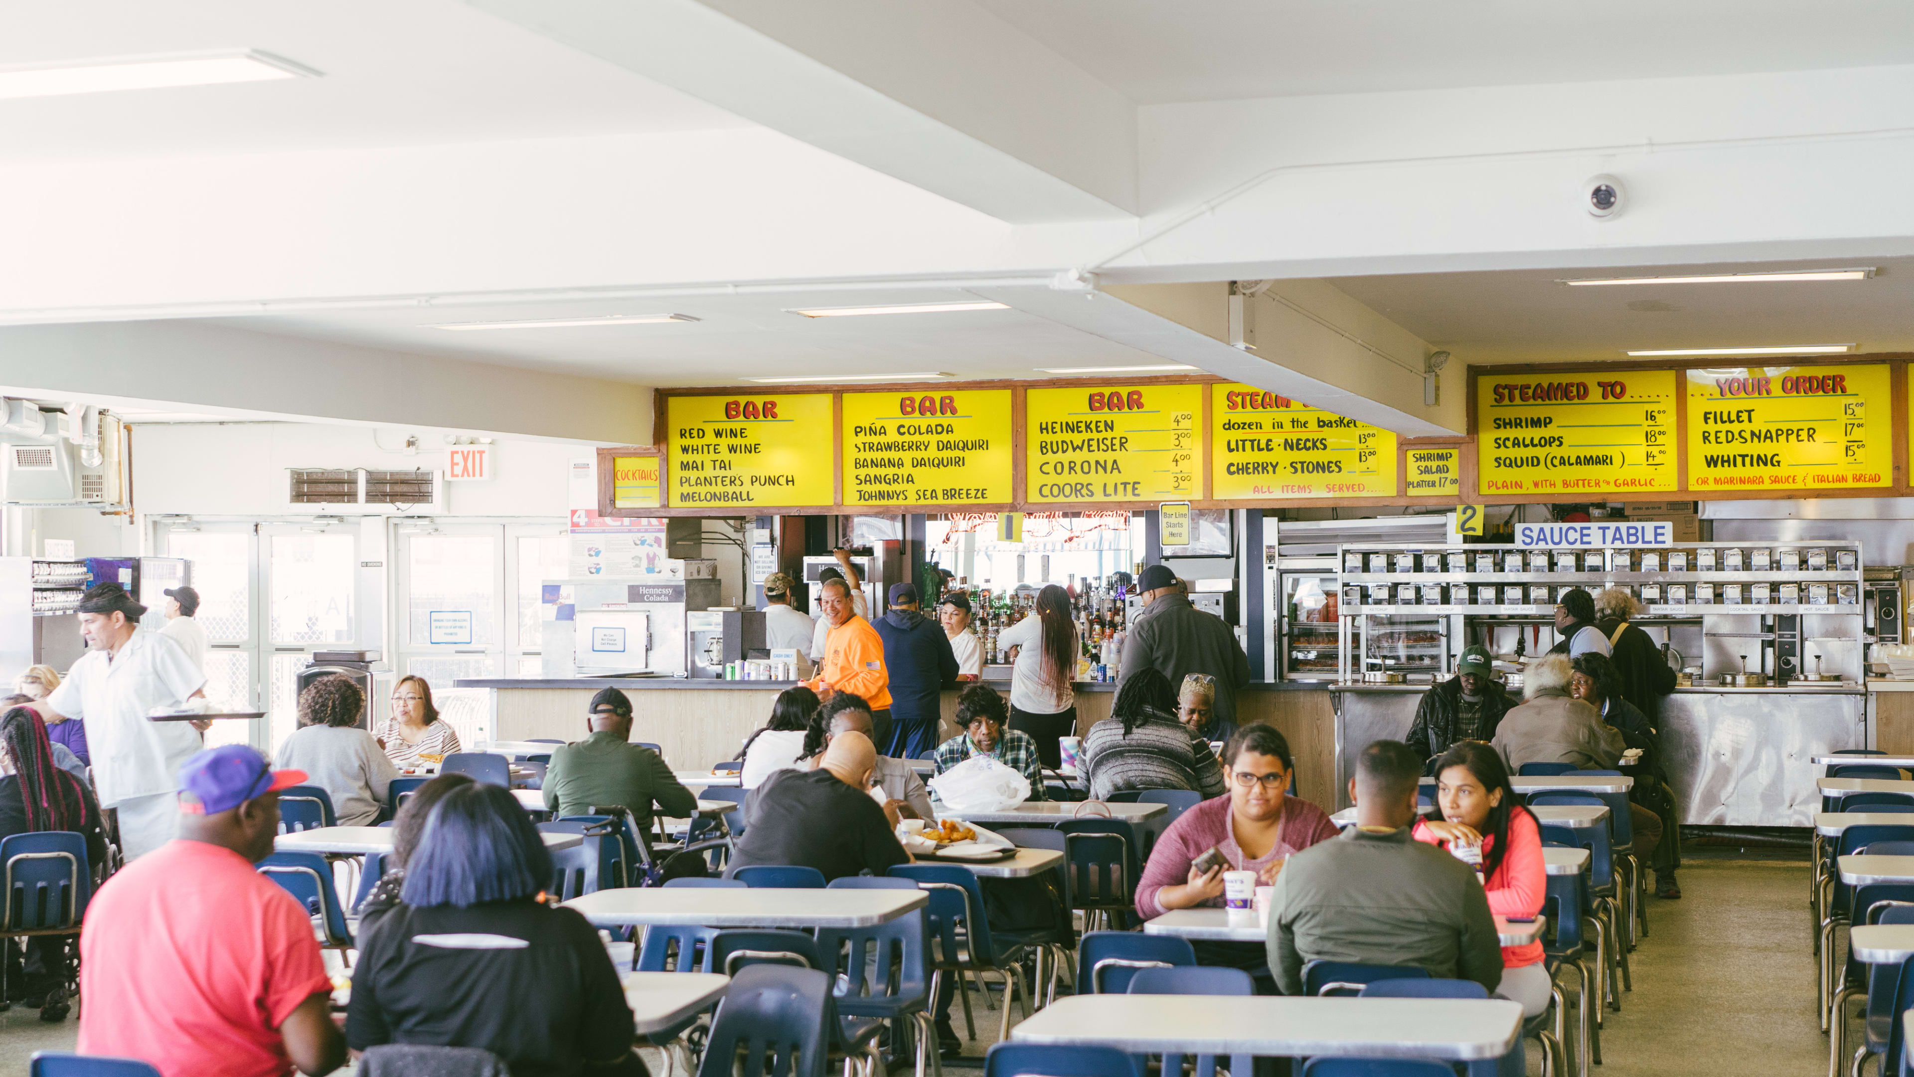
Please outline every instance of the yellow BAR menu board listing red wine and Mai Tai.
M806 508L831 498L831 393L670 397L674 508Z

